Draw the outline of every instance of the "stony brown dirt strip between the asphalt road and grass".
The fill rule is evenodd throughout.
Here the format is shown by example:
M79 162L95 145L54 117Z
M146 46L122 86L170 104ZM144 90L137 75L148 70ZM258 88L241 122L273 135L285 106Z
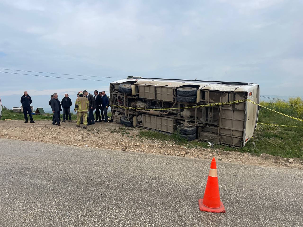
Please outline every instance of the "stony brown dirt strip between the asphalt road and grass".
M160 155L185 156L189 158L222 160L225 162L248 163L262 166L283 166L303 169L303 161L261 154L254 156L249 153L230 152L224 149L187 148L174 142L136 137L140 128L128 128L120 123L95 123L87 129L76 127L75 121L52 125L50 120L35 123L24 123L20 120L0 121L0 138L26 140L41 143L55 143L69 146L89 146L127 152L155 153ZM125 133L125 134L124 134ZM129 133L129 134L128 134Z

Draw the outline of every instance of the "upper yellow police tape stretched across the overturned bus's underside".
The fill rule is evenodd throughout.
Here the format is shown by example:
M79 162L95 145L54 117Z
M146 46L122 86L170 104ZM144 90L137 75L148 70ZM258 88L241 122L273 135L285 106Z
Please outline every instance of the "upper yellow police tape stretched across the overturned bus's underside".
M145 108L136 108L136 107L124 107L124 106L117 106L117 105L111 105L111 106L113 106L113 107L118 107L118 108L123 108L123 109L130 109L130 110L158 110L158 111L159 111L159 110L180 110L180 109L190 109L190 108L201 108L201 107L212 107L212 106L230 105L230 104L243 103L243 102L246 102L246 101L247 101L247 102L250 102L250 103L252 103L252 104L255 104L255 105L257 105L257 106L263 107L263 108L265 108L265 109L267 109L267 110L271 110L271 111L273 111L273 112L275 112L275 113L279 113L279 114L281 114L281 115L283 115L283 116L285 116L285 117L290 117L290 118L292 118L292 119L299 120L299 121L302 121L302 122L303 122L303 120L300 119L300 118L291 117L291 116L286 115L286 114L284 114L284 113L280 113L280 112L278 112L278 111L269 109L269 108L267 108L267 107L265 107L265 106L262 106L262 105L260 105L260 104L258 104L258 103L255 103L254 101L252 101L252 100L250 100L250 99L235 100L235 101L223 102L223 103L212 103L212 104L205 104L205 105L198 105L198 106L177 107L177 108L162 108L162 109L145 109Z

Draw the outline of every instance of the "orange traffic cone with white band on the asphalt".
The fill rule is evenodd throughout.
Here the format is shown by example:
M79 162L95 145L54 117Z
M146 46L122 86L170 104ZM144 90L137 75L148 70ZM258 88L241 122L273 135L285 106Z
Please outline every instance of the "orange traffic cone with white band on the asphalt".
M199 199L199 209L214 213L225 213L223 203L220 201L219 183L216 160L211 160L208 179L203 199Z

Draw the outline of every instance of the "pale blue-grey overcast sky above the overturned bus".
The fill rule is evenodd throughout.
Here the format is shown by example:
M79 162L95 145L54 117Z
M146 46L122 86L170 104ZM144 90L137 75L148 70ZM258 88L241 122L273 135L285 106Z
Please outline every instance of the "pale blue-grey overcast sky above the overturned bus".
M0 0L0 68L254 82L263 95L302 96L302 2ZM108 91L116 80L32 74L105 81L0 73L0 98Z

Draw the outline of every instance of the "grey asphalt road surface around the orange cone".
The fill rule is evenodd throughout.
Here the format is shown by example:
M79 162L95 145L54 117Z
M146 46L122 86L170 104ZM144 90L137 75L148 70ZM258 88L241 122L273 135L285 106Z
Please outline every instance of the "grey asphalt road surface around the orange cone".
M0 226L303 226L303 170L0 139Z

